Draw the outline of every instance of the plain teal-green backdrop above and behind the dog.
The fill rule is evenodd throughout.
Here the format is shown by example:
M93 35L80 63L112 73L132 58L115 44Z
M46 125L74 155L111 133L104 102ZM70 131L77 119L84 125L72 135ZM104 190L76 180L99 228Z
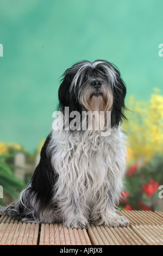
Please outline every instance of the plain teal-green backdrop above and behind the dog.
M0 1L0 141L34 150L52 126L59 77L79 60L106 59L129 95L162 88L162 0Z

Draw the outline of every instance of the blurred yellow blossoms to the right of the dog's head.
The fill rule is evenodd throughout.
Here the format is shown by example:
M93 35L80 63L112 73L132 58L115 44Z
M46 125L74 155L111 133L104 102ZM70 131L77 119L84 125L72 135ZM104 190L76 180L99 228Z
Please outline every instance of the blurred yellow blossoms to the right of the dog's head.
M148 101L136 102L130 97L129 103L132 112L123 127L130 135L132 157L149 161L155 153L163 154L163 96L155 89Z

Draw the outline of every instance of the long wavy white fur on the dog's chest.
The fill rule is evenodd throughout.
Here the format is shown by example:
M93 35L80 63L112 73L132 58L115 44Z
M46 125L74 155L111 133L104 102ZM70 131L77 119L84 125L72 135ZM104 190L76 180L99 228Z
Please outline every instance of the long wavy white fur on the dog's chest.
M73 197L76 204L93 202L100 193L108 196L117 182L121 190L126 157L123 141L120 127L112 129L108 137L97 132L52 131L48 150L59 174L55 200Z

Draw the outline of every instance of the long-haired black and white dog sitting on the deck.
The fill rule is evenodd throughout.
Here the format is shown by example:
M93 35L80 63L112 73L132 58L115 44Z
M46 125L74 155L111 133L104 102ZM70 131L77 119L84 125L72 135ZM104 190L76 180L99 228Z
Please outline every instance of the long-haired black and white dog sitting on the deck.
M22 221L62 223L70 228L87 228L89 223L128 225L117 214L126 170L125 136L120 127L126 118L126 86L120 72L106 60L78 62L65 71L58 96L62 118L57 120L64 128L51 130L32 180L18 203L3 213ZM65 129L65 107L80 115L110 112L110 128L104 114L98 130L94 126L92 130ZM68 124L71 121L72 117Z

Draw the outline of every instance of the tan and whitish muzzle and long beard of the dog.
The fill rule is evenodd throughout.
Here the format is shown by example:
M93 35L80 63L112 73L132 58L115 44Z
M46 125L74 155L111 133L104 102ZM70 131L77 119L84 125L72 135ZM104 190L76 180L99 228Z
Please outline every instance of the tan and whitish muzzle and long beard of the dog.
M113 104L111 89L107 85L98 90L85 86L81 90L79 102L82 105L83 111L93 113L92 130L96 130L97 127L97 130L103 130L103 127L106 125L106 117L108 112L111 111Z

